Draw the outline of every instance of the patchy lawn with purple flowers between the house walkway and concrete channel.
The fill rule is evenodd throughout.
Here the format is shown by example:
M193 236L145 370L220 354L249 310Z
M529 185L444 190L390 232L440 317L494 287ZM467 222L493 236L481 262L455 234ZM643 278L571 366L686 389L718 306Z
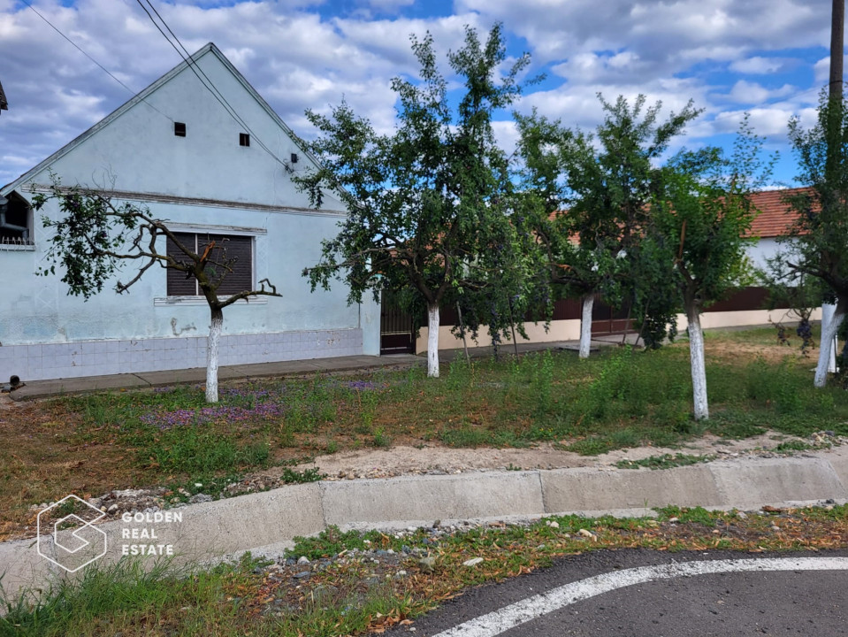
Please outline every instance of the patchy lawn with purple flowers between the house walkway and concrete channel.
M317 374L201 387L67 396L0 411L0 539L20 533L33 504L113 488L221 485L242 472L396 442L526 447L581 454L707 432L766 428L848 434L848 393L813 388L813 357L780 346L773 328L707 333L708 422L691 418L689 350L606 348L581 361L544 352L424 370ZM813 356L815 355L815 351ZM286 473L289 481L317 475Z

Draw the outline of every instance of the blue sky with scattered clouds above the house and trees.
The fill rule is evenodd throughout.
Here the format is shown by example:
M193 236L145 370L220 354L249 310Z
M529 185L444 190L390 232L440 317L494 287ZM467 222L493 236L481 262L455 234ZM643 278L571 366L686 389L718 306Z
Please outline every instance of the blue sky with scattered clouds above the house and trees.
M27 0L133 91L181 58L135 0ZM673 150L727 145L745 111L780 152L776 186L797 173L786 137L809 126L828 82L830 0L152 0L187 50L215 42L297 134L315 135L306 109L345 99L383 132L394 123L393 77L414 78L409 37L430 32L439 54L464 28L502 22L508 55L530 53L516 110L534 107L568 127L602 119L597 94L645 94L663 112L690 100L704 112ZM447 68L445 72L447 73ZM0 0L0 184L61 148L132 94L23 0ZM496 131L515 144L508 112Z

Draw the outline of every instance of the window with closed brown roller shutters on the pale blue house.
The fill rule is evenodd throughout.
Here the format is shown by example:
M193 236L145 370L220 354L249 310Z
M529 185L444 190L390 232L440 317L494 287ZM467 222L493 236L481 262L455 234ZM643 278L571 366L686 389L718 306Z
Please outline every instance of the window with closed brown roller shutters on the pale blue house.
M227 272L220 266L207 265L206 272L213 281L220 280L218 295L228 296L253 289L253 237L226 234L189 234L174 233L177 240L196 254L202 254L210 242L215 242L210 261L226 263L232 269ZM178 261L188 257L177 245L168 240L167 254ZM194 277L186 278L185 273L169 269L167 271L169 296L198 296L200 289Z

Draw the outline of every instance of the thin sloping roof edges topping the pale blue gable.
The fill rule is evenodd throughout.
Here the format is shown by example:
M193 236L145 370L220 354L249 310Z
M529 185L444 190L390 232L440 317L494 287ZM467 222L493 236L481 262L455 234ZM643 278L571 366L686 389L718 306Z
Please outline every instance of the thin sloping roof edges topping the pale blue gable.
M221 64L223 64L230 73L233 73L233 77L235 77L235 79L241 83L245 90L248 91L250 96L252 96L256 100L256 102L264 109L264 111L268 113L271 119L273 119L274 122L276 122L276 124L286 132L286 134L291 138L292 142L294 142L297 148L299 148L306 157L309 157L317 164L317 159L311 153L309 153L308 150L302 148L300 142L298 142L297 135L294 134L294 131L292 131L292 129L289 128L286 123L279 118L279 115L274 112L271 106L267 102L265 102L263 97L256 92L256 88L253 88L250 85L250 82L245 80L244 76L239 73L239 70L235 66L233 66L230 60L225 57L225 55L221 52L221 50L218 49L217 46L215 46L213 42L209 42L201 50L198 50L194 55L192 55L191 58L188 59L188 61L184 60L179 65L174 66L168 73L165 73L157 81L154 81L152 84L150 84L148 88L142 90L140 93L132 97L126 103L118 106L117 109L115 109L109 115L97 122L93 127L90 127L85 133L80 134L71 142L65 144L65 146L50 155L50 157L44 159L40 164L34 166L26 173L22 174L18 179L11 181L11 183L8 183L4 187L0 188L0 195L6 195L10 193L12 190L19 188L21 184L26 183L27 180L30 180L30 178L34 177L34 175L41 173L48 166L56 162L57 159L65 156L71 150L79 146L82 142L85 142L89 137L91 137L101 128L109 126L112 121L118 119L121 115L123 115L126 111L129 111L136 104L144 102L149 95L151 95L157 90L157 88L160 88L168 81L171 81L172 78L174 78L176 75L185 70L189 65L189 62L191 64L194 64L197 60L205 56L207 53L211 53L216 58L218 58ZM2 88L0 88L0 96L2 96Z

